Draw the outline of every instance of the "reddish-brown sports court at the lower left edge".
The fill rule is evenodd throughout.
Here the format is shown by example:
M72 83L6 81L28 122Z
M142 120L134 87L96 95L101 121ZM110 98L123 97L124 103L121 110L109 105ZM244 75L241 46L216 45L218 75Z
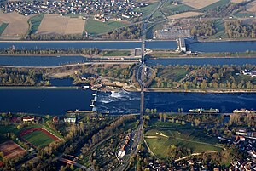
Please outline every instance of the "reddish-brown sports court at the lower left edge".
M8 140L0 144L0 151L3 152L3 157L6 159L17 157L18 155L22 155L26 152L26 150L12 140Z

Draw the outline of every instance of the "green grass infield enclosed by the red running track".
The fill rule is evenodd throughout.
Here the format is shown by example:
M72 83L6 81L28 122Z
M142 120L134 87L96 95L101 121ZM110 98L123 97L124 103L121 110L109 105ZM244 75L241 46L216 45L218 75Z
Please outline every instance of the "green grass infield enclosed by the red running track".
M49 143L54 141L47 134L44 134L41 131L34 131L22 136L22 138L39 148L49 145Z

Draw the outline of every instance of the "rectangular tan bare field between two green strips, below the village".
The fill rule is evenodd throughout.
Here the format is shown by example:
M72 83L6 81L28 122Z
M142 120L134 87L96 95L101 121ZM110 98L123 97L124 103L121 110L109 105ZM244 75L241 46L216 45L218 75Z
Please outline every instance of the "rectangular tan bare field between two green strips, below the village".
M38 26L38 34L83 34L85 20L71 18L58 14L45 14Z

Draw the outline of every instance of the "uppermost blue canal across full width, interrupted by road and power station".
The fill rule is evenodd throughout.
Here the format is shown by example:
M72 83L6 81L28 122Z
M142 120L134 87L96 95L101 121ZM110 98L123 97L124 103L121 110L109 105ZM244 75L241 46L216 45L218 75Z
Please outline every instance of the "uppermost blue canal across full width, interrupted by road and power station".
M69 42L69 43L0 43L0 49L134 49L141 48L140 42ZM146 48L150 49L177 49L176 41L147 41ZM256 51L256 41L230 41L230 42L206 42L190 43L188 48L198 52L245 52Z

